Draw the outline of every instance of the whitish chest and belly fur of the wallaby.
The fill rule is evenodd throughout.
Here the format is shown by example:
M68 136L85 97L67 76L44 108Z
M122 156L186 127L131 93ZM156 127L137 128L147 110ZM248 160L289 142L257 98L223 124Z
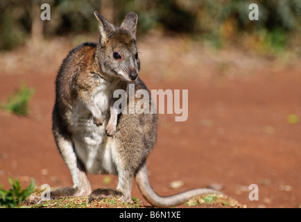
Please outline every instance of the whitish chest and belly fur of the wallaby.
M88 173L117 174L114 164L114 138L105 135L105 127L110 119L110 95L112 88L101 85L92 97L103 114L102 126L93 123L92 114L83 101L77 101L68 115L76 155Z

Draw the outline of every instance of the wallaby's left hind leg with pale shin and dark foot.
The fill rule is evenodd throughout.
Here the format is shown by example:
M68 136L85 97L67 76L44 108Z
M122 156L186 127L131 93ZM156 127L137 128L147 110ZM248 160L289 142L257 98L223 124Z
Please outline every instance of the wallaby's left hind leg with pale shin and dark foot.
M91 187L87 178L87 173L82 167L76 153L74 153L73 143L70 138L63 137L58 132L53 130L55 142L60 150L63 160L67 164L67 167L71 171L72 180L74 182L73 187L60 187L51 190L51 199L60 198L64 196L87 196L91 193Z

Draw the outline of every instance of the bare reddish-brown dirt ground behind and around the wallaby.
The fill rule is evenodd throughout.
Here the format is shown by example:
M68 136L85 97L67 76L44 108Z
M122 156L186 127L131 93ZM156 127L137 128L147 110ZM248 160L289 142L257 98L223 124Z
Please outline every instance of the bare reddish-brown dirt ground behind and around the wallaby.
M189 89L187 121L159 116L157 144L147 161L158 194L221 185L224 194L247 207L300 207L301 120L287 120L290 114L301 118L300 66L258 69L234 79L213 74L154 80L150 69L142 63L141 78L149 89ZM35 87L29 117L0 113L0 184L8 188L12 176L23 186L31 178L38 185L71 186L51 133L55 71L1 74L0 79L0 101L19 87L19 79ZM117 186L116 176L109 185L104 178L89 176L92 189ZM175 180L184 185L172 189ZM258 185L259 200L248 199L251 184ZM132 196L147 205L135 182Z

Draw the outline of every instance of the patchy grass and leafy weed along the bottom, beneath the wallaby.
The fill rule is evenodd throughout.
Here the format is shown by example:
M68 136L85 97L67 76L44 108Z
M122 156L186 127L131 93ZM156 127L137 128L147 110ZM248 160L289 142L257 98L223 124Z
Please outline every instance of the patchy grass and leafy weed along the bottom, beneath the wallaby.
M55 200L45 200L42 203L38 203L43 189L41 186L36 186L33 180L26 189L21 189L18 180L12 180L9 178L10 185L9 190L0 188L0 208L1 207L26 207L26 208L144 208L141 205L139 198L132 196L130 203L121 201L118 197L115 198L103 198L101 200L93 200L89 203L89 196L58 198ZM53 187L51 188L53 189ZM31 200L28 197L31 196ZM246 205L239 204L236 200L223 195L205 195L196 198L191 198L185 205L200 207L246 207ZM175 208L175 207L173 207Z

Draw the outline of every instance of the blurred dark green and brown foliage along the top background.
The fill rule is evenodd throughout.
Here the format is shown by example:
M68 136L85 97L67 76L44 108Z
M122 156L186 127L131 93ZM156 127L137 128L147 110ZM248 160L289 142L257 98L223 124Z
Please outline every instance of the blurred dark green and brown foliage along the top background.
M129 11L139 15L138 31L157 29L164 33L187 33L219 47L254 35L264 47L283 49L291 33L300 33L300 0L1 0L0 49L13 49L31 37L33 13L42 3L51 6L51 21L44 21L44 37L97 31L93 12L112 12L111 22L119 24ZM250 3L259 6L259 20L250 21ZM252 42L252 41L251 41ZM249 42L250 43L250 42ZM259 44L260 45L260 44Z

